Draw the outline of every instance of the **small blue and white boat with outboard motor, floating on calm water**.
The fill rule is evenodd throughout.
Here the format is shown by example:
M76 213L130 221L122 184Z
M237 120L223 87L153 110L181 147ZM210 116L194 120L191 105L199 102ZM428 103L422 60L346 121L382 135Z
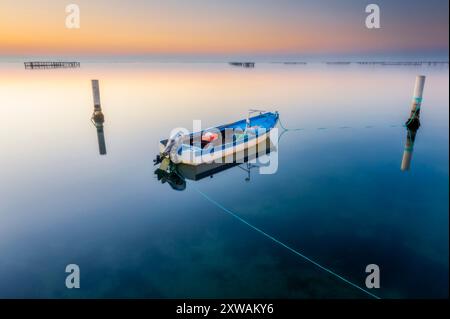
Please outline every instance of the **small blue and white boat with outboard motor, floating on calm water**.
M170 157L177 164L194 166L230 162L230 156L265 141L276 126L278 112L258 112L259 115L230 124L161 140L157 161Z

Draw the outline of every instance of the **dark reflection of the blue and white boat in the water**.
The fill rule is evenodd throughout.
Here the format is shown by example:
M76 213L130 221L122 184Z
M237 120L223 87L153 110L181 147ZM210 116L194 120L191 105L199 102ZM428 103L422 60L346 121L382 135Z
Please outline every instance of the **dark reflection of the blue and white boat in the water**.
M276 147L266 139L260 144L247 148L242 152L235 153L232 159L222 159L221 163L200 164L197 166L188 164L175 164L169 159L163 160L160 167L155 170L155 175L162 184L168 183L174 190L186 189L186 180L199 181L206 177L213 178L214 175L225 170L237 167L244 172L244 181L251 180L251 171L255 168L266 166L270 153L275 153Z

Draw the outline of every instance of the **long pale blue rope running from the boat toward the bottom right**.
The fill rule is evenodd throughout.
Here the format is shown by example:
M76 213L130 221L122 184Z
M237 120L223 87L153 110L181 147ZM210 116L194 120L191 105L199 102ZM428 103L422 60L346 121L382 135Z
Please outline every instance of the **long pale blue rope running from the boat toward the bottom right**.
M286 245L285 243L281 242L280 240L276 239L275 237L269 235L268 233L266 233L265 231L261 230L260 228L250 224L248 221L246 221L245 219L241 218L240 216L238 216L237 214L233 213L231 210L227 209L225 206L223 206L222 204L216 202L214 199L212 199L211 197L209 197L208 195L206 195L204 192L202 192L201 190L199 190L197 187L194 186L194 184L191 183L190 185L193 189L195 189L197 191L197 193L199 193L201 196L203 196L203 198L205 198L206 200L208 200L211 204L213 204L214 206L220 208L221 210L223 210L225 213L233 216L234 218L236 218L237 220L239 220L240 222L244 223L245 225L249 226L250 228L252 228L253 230L256 230L258 233L264 235L265 237L269 238L270 240L272 240L273 242L277 243L278 245L286 248L287 250L291 251L292 253L294 253L295 255L303 258L304 260L312 263L313 265L317 266L318 268L328 272L329 274L335 276L336 278L339 278L340 280L344 281L345 283L349 284L350 286L353 286L356 289L359 289L360 291L366 293L367 295L375 298L375 299L381 299L380 297L378 297L377 295L369 292L368 290L358 286L357 284L351 282L350 280L342 277L341 275L335 273L334 271L332 271L331 269L322 266L321 264L319 264L318 262L312 260L311 258L305 256L304 254L300 253L298 250L295 250L294 248L289 247L288 245Z

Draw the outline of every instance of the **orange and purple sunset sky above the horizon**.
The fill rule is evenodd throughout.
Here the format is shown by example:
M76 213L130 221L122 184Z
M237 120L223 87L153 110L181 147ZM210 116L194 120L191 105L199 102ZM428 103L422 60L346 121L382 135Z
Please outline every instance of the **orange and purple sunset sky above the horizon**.
M381 29L365 27L365 6ZM65 27L78 4L81 28ZM0 0L0 55L448 56L448 0Z

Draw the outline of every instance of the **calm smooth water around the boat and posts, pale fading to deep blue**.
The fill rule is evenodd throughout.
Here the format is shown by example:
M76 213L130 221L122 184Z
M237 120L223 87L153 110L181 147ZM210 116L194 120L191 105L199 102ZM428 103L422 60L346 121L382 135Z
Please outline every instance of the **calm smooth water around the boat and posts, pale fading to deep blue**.
M205 200L381 298L448 296L448 67L84 64L0 75L0 297L368 298ZM422 127L401 171L417 74ZM107 154L90 122L100 80ZM174 127L278 110L278 170L161 184ZM67 264L81 288L65 287Z

